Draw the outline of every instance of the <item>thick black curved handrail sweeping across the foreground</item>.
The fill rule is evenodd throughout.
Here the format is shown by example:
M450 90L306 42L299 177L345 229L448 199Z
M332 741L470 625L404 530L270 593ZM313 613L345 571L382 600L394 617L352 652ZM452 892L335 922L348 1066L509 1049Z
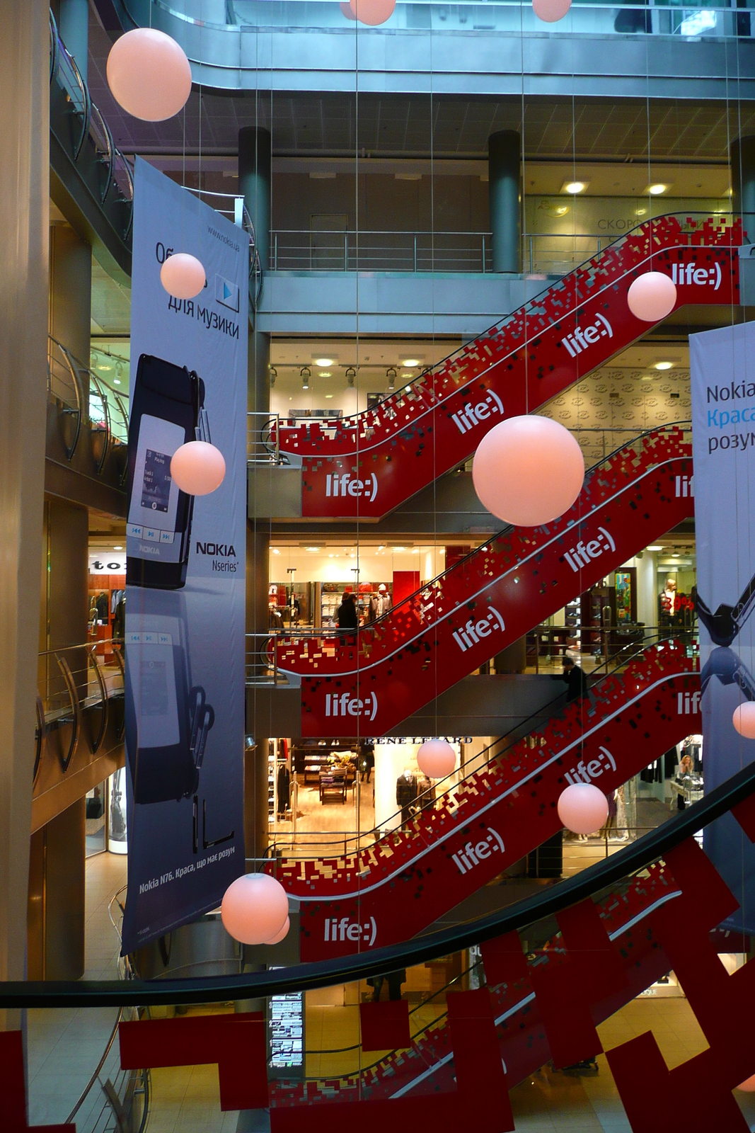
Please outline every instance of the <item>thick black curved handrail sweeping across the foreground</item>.
M367 953L276 968L243 976L180 980L8 980L0 982L0 1007L102 1007L121 1005L225 1003L258 996L291 995L353 982L447 956L504 932L517 931L543 917L600 893L608 885L645 869L664 853L726 815L755 791L755 763L737 772L700 802L645 834L633 845L558 885L541 889L506 909L474 921L414 937Z

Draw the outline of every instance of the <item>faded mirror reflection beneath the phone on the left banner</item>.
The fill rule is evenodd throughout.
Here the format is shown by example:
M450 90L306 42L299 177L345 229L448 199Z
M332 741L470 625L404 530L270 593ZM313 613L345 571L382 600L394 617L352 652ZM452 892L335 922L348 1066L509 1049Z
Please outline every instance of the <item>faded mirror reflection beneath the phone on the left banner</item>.
M191 683L183 596L126 614L126 750L134 801L194 795L215 713Z

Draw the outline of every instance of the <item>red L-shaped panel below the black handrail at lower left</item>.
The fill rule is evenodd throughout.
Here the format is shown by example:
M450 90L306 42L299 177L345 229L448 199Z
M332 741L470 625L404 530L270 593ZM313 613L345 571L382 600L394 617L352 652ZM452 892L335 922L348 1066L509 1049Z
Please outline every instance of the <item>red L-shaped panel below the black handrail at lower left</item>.
M260 1012L120 1023L121 1070L217 1063L221 1109L268 1105L265 1016Z

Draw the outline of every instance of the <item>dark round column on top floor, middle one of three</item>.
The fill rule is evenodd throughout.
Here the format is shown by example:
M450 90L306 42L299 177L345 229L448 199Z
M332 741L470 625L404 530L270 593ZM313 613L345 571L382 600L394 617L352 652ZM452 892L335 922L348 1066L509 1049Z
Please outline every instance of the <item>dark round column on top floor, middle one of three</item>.
M488 194L494 272L522 271L522 138L498 130L488 138Z

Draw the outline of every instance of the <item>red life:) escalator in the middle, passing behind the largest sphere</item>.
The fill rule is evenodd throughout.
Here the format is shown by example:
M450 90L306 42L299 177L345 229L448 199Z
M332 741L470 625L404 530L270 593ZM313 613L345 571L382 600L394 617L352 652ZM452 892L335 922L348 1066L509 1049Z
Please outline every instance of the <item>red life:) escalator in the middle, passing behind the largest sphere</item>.
M357 633L274 640L302 736L385 735L693 514L692 442L654 429L597 465L574 506L501 531Z

